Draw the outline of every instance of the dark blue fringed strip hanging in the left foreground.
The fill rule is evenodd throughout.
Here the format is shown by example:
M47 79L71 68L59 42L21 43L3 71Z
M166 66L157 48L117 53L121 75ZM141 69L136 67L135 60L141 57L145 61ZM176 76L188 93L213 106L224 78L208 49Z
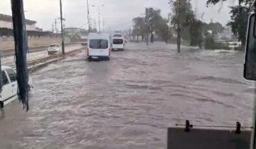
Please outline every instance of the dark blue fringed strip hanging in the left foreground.
M17 69L18 97L23 104L23 108L29 110L28 82L29 74L27 70L27 34L25 26L25 16L23 10L23 0L12 0L12 23L15 41L15 62Z

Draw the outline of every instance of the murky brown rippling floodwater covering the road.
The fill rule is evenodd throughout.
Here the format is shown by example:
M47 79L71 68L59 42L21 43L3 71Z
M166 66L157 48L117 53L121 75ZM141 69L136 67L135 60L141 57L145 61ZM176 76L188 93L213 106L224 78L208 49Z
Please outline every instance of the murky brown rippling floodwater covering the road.
M0 120L1 148L166 148L167 128L251 126L253 84L244 53L127 43L110 62L85 51L33 73L26 113L14 102Z

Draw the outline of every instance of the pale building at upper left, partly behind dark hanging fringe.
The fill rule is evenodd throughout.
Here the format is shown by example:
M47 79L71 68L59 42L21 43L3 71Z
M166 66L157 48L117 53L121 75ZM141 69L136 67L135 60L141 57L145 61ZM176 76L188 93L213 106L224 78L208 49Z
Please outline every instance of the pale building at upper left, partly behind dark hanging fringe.
M36 29L36 21L26 19L25 24L27 30L38 30ZM12 16L0 14L0 28L13 29Z

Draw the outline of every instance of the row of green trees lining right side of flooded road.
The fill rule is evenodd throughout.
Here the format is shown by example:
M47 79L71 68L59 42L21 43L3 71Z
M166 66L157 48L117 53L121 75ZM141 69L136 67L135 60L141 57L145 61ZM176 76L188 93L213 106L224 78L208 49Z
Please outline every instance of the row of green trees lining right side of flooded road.
M208 0L205 4L216 5L220 1L226 0ZM231 21L227 26L231 27L232 32L242 42L246 41L246 29L250 6L253 0L239 0L237 6L231 6ZM212 43L213 38L209 36L208 30L212 34L217 34L224 30L220 23L205 23L197 17L196 12L192 10L190 0L170 0L171 12L168 18L160 15L160 9L146 8L144 17L135 17L133 19L133 30L129 30L133 39L139 41L154 41L154 34L157 34L162 40L168 42L171 38L177 39L177 51L180 52L181 38L189 41L192 46L202 47L205 41L205 47L214 49L214 46L207 45ZM175 37L173 37L175 35ZM135 39L136 37L136 39Z

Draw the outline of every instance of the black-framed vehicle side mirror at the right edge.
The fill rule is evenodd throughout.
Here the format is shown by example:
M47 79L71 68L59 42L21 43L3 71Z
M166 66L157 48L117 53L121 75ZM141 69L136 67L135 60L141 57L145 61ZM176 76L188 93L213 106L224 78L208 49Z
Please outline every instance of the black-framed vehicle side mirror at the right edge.
M255 13L248 19L246 54L244 60L244 78L246 80L256 80L256 25Z

